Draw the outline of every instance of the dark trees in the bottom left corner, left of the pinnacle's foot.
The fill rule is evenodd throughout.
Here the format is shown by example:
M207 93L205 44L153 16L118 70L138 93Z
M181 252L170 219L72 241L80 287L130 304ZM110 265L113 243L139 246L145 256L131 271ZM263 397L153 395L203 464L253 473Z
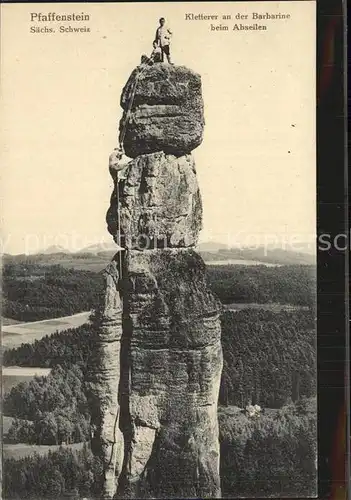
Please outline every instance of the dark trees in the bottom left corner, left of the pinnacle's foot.
M7 459L3 463L2 495L9 500L91 498L101 474L101 462L87 446L81 451L62 448L45 457Z

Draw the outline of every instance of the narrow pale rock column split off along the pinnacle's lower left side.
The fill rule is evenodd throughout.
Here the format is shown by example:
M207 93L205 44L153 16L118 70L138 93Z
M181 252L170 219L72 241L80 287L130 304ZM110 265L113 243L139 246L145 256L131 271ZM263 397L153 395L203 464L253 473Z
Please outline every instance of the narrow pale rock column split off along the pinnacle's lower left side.
M116 257L117 259L117 257ZM119 428L122 303L119 272L114 259L105 269L105 295L96 311L96 343L89 367L92 407L92 450L104 467L103 498L112 498L122 470L124 440Z

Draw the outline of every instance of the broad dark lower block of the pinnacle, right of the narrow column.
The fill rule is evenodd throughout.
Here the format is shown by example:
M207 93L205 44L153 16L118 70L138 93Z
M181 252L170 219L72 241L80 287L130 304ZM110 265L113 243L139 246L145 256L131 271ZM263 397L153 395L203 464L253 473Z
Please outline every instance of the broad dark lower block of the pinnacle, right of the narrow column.
M190 249L129 251L127 453L121 497L220 496L217 399L219 304Z

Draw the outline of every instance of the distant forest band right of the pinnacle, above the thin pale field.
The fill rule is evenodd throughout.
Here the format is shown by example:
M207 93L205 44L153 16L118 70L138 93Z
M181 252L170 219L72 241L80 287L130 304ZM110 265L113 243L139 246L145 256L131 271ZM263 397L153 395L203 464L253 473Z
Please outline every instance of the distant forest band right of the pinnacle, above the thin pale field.
M223 304L279 302L315 307L313 266L207 266L207 276Z

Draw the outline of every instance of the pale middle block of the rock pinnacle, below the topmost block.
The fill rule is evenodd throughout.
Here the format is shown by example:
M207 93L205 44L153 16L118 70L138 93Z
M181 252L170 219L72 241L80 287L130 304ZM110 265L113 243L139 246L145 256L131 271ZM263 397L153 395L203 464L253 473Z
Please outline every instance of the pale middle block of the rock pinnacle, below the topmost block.
M195 246L202 228L202 203L191 155L163 152L131 161L119 182L119 220L124 248ZM116 185L107 212L118 243Z

